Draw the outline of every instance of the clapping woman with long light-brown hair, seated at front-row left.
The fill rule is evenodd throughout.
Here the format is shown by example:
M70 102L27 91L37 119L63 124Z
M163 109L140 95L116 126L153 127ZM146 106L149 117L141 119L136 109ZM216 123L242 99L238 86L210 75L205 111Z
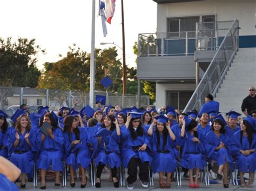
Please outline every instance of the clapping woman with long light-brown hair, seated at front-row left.
M30 119L24 114L17 118L15 128L8 137L9 160L21 169L21 188L25 188L26 174L32 171L34 164L32 151L36 151L36 130L31 129Z

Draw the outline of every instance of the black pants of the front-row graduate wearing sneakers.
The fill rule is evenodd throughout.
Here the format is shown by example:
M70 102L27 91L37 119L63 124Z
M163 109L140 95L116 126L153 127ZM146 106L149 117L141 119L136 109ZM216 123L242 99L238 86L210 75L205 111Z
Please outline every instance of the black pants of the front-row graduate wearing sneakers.
M128 164L128 183L133 183L137 180L139 166L139 180L143 182L149 181L149 162L142 162L139 158L132 158Z

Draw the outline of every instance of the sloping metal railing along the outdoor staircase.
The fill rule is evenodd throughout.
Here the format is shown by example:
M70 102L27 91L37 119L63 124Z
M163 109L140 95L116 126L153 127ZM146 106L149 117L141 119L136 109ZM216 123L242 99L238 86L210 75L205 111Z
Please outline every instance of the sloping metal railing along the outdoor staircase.
M226 75L228 67L238 51L238 39L239 23L238 20L234 20L223 41L221 41L217 52L200 80L196 90L191 96L190 101L188 101L184 112L192 109L199 110L201 105L203 105L205 96L208 94L212 94L213 97L215 97L215 94Z

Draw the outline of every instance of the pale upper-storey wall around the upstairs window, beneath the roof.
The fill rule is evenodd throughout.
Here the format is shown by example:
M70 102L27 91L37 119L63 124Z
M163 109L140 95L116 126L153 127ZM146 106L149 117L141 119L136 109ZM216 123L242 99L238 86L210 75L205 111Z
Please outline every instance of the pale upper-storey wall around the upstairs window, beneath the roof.
M255 0L206 0L157 5L157 32L167 32L167 18L216 15L216 21L239 20L240 36L256 35Z

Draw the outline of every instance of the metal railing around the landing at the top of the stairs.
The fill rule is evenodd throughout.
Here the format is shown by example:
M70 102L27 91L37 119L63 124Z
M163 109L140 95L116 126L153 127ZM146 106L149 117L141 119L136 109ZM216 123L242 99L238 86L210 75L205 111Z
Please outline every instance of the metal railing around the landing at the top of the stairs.
M217 50L223 41L232 21L198 22L196 24L197 51Z

